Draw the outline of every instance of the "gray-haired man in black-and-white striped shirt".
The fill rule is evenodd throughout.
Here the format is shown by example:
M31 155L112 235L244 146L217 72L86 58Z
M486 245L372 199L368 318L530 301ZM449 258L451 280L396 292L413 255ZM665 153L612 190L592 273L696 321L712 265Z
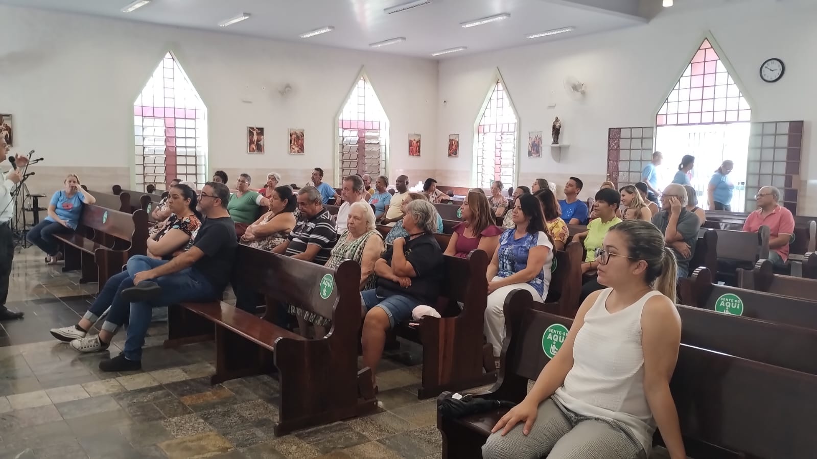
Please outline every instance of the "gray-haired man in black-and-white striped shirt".
M335 222L324 208L323 196L314 186L298 189L297 199L301 216L289 238L272 252L325 265L337 242Z

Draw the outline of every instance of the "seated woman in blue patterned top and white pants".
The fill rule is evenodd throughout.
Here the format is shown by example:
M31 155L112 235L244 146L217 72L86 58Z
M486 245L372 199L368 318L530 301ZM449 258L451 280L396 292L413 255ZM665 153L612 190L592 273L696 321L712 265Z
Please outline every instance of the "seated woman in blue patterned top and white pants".
M499 236L499 245L488 265L488 307L485 337L493 346L493 357L502 352L505 339L505 297L524 288L534 301L544 301L551 283L553 237L547 231L542 204L532 194L516 199L511 209L515 228Z

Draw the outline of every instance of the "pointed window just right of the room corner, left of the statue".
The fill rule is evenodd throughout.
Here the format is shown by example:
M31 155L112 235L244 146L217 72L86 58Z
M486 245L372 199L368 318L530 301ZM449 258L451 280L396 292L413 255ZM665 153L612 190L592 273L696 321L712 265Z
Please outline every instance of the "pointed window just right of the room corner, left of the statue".
M493 180L516 186L516 143L519 123L511 98L497 78L476 126L476 186L490 188Z

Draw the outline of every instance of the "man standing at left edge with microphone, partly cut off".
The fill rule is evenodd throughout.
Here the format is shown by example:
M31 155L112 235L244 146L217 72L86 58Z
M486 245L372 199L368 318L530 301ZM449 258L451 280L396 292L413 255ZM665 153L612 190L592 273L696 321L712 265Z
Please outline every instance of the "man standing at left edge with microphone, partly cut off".
M0 163L6 160L8 144L0 136ZM17 156L17 167L25 167L29 158ZM22 180L20 171L14 168L3 174L0 180L0 320L22 319L23 313L10 311L6 307L8 297L8 278L11 275L11 262L14 261L14 235L11 234L11 218L14 217L14 197L11 193Z

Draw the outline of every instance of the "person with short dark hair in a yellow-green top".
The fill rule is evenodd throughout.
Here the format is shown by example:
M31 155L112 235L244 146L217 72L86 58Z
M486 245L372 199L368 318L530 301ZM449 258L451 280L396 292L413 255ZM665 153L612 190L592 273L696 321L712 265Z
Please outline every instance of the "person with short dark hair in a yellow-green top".
M584 243L586 253L584 263L582 263L581 301L584 301L592 292L605 288L596 280L596 269L599 266L599 262L596 261L596 248L602 246L610 228L621 223L621 219L616 216L620 203L621 195L618 194L618 191L609 188L600 189L596 193L596 202L593 203L593 210L599 217L587 224L587 231L573 237L574 242Z

